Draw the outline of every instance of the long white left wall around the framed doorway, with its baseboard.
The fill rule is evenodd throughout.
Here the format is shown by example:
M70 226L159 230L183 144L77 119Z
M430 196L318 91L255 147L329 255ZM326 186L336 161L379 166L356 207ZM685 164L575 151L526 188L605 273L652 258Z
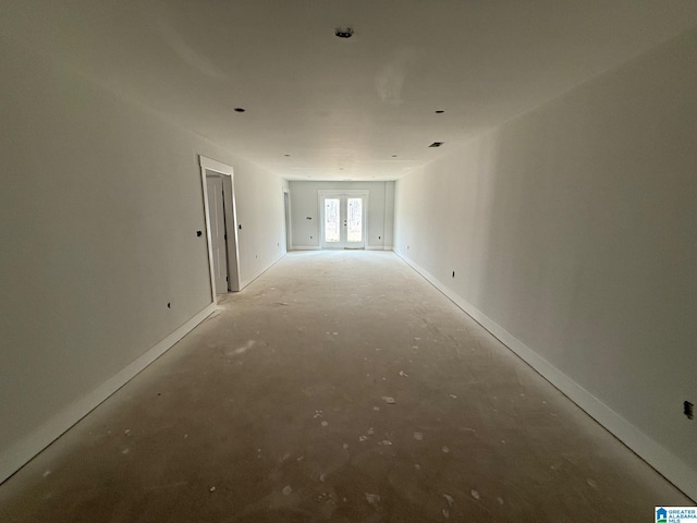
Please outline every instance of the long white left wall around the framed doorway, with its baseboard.
M285 250L279 178L3 37L0 56L3 481L210 307L199 154L235 169L243 281Z

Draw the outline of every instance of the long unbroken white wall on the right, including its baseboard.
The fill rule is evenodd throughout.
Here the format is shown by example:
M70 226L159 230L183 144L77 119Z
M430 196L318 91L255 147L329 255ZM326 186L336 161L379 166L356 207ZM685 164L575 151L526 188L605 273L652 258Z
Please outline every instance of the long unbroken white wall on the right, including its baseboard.
M694 499L696 93L693 32L400 180L395 203L400 256Z

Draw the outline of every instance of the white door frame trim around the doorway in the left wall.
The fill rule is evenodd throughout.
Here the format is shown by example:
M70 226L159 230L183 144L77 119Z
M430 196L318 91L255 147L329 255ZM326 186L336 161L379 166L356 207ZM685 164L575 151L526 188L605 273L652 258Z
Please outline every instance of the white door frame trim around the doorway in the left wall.
M208 190L206 185L206 171L222 177L225 205L225 223L228 234L228 290L240 290L240 248L237 239L237 207L235 205L234 172L231 166L220 161L198 156L200 166L200 182L204 192L204 216L206 217L206 240L208 242L208 270L210 272L210 295L213 303L216 300L216 281L213 269L213 248L210 234L210 218L208 216Z

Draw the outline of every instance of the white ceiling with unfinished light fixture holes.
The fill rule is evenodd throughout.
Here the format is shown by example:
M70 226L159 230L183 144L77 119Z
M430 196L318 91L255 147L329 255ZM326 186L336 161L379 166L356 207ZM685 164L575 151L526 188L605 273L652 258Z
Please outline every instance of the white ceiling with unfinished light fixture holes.
M694 0L0 0L0 11L3 34L295 180L398 179L697 26ZM355 34L339 39L337 26Z

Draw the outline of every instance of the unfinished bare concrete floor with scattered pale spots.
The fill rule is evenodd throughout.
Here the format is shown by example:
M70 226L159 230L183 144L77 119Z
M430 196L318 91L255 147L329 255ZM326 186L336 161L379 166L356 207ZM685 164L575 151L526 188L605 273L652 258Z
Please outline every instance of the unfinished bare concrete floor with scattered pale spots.
M290 254L0 487L0 521L33 523L635 523L656 504L693 503L372 252Z

